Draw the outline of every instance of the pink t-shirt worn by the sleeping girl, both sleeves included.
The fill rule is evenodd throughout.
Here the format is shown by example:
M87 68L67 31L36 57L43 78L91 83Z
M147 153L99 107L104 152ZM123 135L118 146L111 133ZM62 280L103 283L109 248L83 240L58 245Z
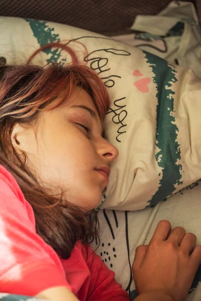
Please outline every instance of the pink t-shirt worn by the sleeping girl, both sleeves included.
M13 176L0 166L0 292L34 296L68 287L80 301L128 301L128 293L90 245L78 241L67 260L36 233L34 212Z

